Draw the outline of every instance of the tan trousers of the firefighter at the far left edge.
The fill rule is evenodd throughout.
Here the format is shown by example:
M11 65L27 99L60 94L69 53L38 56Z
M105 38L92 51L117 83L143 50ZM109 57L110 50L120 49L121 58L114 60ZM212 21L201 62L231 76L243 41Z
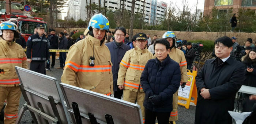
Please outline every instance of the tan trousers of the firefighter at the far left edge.
M0 108L3 107L6 99L4 111L4 124L15 124L18 118L18 107L20 99L19 87L0 87Z

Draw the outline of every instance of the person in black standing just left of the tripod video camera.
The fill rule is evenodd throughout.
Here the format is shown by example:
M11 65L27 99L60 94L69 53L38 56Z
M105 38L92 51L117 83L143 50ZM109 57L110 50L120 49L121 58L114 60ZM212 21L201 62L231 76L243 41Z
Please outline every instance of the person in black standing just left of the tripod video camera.
M193 64L193 60L195 59L195 50L192 48L191 42L187 43L188 52L185 54L186 61L188 63L188 69L190 70Z

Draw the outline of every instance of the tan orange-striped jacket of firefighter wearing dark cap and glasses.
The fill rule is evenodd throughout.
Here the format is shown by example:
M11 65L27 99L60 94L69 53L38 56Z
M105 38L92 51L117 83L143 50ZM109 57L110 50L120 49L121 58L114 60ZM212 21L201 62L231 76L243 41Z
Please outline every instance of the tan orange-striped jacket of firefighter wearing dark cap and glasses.
M154 59L154 56L147 47L143 50L135 47L127 51L119 65L117 85L124 85L124 89L135 92L140 87L140 92L143 92L140 86L140 76L150 59Z

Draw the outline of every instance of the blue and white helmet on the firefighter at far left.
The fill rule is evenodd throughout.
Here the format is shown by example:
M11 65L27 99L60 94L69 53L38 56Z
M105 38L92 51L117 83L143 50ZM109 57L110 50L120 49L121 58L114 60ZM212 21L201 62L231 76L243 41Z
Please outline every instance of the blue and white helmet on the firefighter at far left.
M17 32L18 26L11 21L4 21L0 23L0 35L3 35L3 30L14 31L14 38L19 38L19 33Z

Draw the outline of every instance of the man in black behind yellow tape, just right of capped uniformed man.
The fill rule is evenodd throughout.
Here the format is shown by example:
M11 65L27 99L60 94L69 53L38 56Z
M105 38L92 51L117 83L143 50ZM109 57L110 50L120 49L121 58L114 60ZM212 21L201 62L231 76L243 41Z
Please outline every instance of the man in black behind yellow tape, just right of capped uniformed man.
M50 30L50 35L48 35L48 40L50 42L50 49L58 49L58 45L59 45L59 37L55 35L56 31L54 29ZM54 68L55 65L55 56L56 56L56 52L50 52L50 55L52 55L52 64L51 64L51 68ZM46 70L50 71L50 63L47 64L46 63Z

